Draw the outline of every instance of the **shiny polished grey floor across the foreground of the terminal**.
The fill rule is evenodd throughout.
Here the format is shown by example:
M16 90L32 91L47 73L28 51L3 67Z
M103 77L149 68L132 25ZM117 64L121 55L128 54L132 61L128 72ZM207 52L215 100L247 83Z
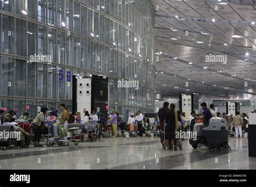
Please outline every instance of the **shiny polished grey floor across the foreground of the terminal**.
M102 138L68 147L0 150L0 169L256 169L247 138L229 138L231 150L164 150L158 137Z

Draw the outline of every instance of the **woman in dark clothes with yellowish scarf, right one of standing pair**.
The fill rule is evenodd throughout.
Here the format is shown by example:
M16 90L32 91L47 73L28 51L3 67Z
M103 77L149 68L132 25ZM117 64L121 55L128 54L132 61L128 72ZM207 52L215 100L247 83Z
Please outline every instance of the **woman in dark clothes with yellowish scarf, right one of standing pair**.
M167 134L168 134L168 141L169 141L169 150L172 149L171 147L171 143L173 140L174 143L174 150L177 150L177 139L176 139L176 135L175 132L178 130L179 128L179 121L181 121L181 118L177 112L177 110L175 110L175 104L171 104L170 105L170 109L167 111L166 113L166 130L167 130Z

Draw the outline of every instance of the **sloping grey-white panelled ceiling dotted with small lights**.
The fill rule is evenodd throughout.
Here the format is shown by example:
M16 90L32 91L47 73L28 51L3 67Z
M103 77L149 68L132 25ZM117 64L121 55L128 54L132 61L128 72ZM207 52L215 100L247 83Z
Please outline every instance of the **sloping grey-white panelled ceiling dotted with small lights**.
M156 56L159 56L154 65L158 73L157 93L174 97L179 93L199 93L218 99L256 97L256 1L151 2L156 14ZM205 62L205 56L210 53L227 55L227 64ZM173 60L174 57L177 59Z

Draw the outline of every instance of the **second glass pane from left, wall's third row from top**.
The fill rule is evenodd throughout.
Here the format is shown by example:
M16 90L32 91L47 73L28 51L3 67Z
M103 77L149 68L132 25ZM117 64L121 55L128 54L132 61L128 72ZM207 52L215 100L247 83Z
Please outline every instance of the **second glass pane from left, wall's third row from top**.
M16 59L15 95L26 96L26 61Z

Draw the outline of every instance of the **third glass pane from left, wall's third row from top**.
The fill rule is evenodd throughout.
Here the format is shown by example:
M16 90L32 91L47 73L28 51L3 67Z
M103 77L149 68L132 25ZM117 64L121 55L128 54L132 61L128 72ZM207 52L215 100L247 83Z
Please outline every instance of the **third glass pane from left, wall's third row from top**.
M35 62L28 62L28 97L37 97L37 70Z

